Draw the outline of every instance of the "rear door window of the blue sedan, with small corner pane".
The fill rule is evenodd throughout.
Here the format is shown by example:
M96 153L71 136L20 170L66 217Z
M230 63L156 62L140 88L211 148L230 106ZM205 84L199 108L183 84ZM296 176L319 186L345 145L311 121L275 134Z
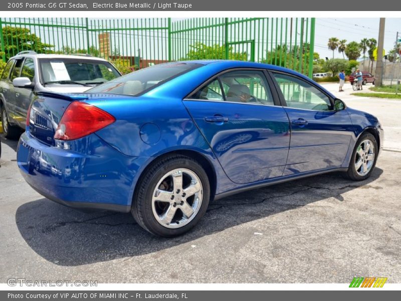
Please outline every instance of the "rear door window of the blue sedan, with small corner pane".
M265 75L258 70L224 73L218 79L198 89L189 98L274 105Z

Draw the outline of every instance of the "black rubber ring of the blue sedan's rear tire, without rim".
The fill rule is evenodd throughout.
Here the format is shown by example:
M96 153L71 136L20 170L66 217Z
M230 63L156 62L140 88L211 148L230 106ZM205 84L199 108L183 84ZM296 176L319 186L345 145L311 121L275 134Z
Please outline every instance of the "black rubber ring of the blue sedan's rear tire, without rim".
M152 211L152 195L154 192L154 189L157 185L157 183L160 181L161 177L163 177L166 173L168 173L171 170L177 169L177 168L184 168L192 171L193 173L196 174L196 176L199 177L200 182L202 182L202 187L203 187L203 200L202 204L200 205L200 208L196 214L196 216L186 225L180 228L166 228L162 226L161 224L158 223L156 218L153 215ZM194 225L196 225L200 219L205 215L206 210L209 205L209 199L210 199L210 185L209 185L209 179L206 174L206 172L203 170L202 167L200 167L199 164L196 162L192 161L191 159L173 159L171 161L166 162L165 164L162 165L160 169L158 169L153 175L151 175L150 180L148 183L142 183L141 186L145 186L144 191L143 191L143 196L144 199L142 200L137 200L141 202L139 204L136 202L137 206L142 206L142 222L144 223L144 226L147 228L148 231L150 231L153 234L157 234L160 236L165 236L165 237L172 237L172 236L177 236L181 235L187 231L189 231ZM143 187L141 187L143 189Z

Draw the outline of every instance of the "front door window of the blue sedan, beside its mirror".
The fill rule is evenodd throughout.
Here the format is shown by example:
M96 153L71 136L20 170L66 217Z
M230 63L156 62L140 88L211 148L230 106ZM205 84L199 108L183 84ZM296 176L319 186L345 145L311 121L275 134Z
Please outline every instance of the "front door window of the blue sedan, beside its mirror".
M329 97L308 82L281 73L273 73L288 107L296 109L329 111Z

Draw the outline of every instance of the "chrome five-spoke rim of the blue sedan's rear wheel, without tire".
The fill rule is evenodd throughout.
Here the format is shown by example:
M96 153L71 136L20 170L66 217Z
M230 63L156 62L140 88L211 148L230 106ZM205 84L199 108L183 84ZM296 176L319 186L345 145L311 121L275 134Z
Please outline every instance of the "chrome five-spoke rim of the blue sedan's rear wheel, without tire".
M153 216L166 228L180 228L196 216L202 200L199 177L188 169L174 169L161 177L153 191Z

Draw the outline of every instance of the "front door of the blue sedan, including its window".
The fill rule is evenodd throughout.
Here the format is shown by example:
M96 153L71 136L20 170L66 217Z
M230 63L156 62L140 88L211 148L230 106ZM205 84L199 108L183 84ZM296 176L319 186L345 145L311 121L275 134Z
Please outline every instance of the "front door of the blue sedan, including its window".
M351 140L346 110L333 110L318 86L286 73L272 72L291 123L291 143L284 176L342 165Z

